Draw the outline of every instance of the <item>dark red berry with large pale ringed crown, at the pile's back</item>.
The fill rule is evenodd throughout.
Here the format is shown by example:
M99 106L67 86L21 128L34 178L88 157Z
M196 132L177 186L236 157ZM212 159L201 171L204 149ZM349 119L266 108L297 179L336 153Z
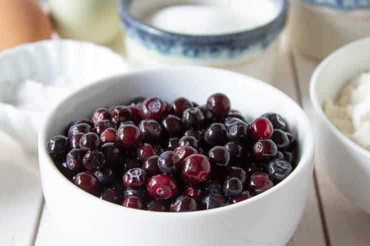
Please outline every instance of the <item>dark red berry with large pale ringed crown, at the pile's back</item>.
M166 103L157 98L157 97L149 97L145 101L142 102L140 108L140 115L142 119L153 119L153 120L160 120L167 110Z

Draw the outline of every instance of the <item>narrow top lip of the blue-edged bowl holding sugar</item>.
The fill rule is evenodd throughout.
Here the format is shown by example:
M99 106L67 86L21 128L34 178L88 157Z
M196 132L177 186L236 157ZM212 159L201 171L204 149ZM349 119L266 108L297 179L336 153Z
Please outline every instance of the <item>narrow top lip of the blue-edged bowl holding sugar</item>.
M123 7L124 4L126 4L126 1L127 0L119 0L117 3L118 12L119 12L121 21L123 19L126 19L130 23L134 23L134 25L137 28L146 31L150 33L151 35L163 36L163 37L171 38L174 40L186 40L190 42L191 41L201 42L203 40L209 42L209 39L218 40L218 41L219 40L223 40L223 41L224 40L235 40L236 37L253 36L255 33L267 32L266 30L270 30L271 28L273 28L275 22L279 20L282 20L281 26L279 28L281 31L285 25L287 13L288 13L288 6L289 6L288 0L280 0L281 9L279 9L279 12L277 12L276 16L274 16L274 18L272 18L270 21L265 22L264 24L256 26L254 28L240 30L236 32L230 32L230 33L224 33L224 34L192 35L192 34L181 34L181 33L166 31L161 28L157 28L155 26L147 24L144 21L141 21L140 19L133 16L129 11L127 11L126 8Z

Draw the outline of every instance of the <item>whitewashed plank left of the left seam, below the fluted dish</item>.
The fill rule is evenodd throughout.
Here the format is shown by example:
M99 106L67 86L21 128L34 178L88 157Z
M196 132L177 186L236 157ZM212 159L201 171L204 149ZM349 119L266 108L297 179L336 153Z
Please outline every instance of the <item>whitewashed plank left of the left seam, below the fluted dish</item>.
M43 205L37 159L0 132L0 245L31 246Z

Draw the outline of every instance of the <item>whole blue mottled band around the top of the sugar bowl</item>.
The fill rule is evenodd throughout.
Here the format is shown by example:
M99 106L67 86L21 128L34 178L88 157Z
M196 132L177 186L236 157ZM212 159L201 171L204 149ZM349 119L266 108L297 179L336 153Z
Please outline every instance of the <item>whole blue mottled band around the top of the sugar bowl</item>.
M187 58L236 58L255 49L266 49L284 28L288 0L281 0L281 11L272 21L246 31L222 35L184 35L150 26L129 13L133 0L119 0L118 8L126 35L163 55Z

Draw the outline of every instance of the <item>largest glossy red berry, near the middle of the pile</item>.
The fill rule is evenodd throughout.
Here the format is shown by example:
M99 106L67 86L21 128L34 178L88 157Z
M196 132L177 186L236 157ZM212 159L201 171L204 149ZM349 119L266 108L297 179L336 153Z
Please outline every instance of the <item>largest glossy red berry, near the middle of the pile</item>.
M191 185L198 185L209 180L211 166L206 156L194 154L183 160L182 180Z

